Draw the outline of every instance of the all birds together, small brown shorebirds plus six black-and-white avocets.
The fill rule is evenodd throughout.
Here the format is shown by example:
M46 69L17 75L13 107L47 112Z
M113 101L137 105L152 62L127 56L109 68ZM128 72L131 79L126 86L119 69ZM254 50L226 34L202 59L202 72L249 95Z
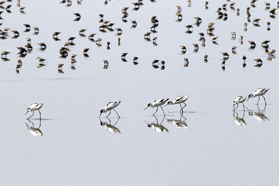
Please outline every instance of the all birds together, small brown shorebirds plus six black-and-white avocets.
M7 15L9 13L11 13L11 3L12 0L6 0L6 1L1 1L0 2L0 10L3 9L3 10L6 10L6 13ZM78 4L82 4L82 0L77 0ZM156 1L155 0L150 0L150 2L153 2L155 3ZM191 7L191 0L188 0L188 7ZM230 9L232 10L236 10L236 16L239 16L239 11L240 9L239 8L236 8L235 9L235 6L237 5L235 2L230 2L230 0L227 0L228 3L225 3L225 4L222 4L220 6L220 8L218 8L216 10L216 13L217 13L217 20L223 20L223 21L226 21L228 19L228 13L227 13L227 7L229 7ZM243 23L243 31L247 31L248 28L248 24L249 22L252 22L252 24L255 26L255 27L259 27L260 24L259 22L261 21L260 18L256 18L254 20L250 20L251 18L251 9L256 7L256 2L257 0L251 0L251 6L250 7L247 7L246 8L246 15L247 15L247 20ZM71 0L62 0L60 2L61 4L66 4L66 7L70 7L72 6L72 1ZM9 4L9 5L7 5ZM106 0L104 2L105 5L108 4L108 1ZM5 7L5 5L7 5ZM140 8L144 5L143 3L143 0L138 0L137 2L134 2L132 3L133 5L133 9L132 11L138 11L140 10ZM209 9L209 6L210 6L210 3L209 2L204 2L204 8L205 10L208 10ZM277 8L279 8L279 1L277 2L277 7L276 8L270 8L270 3L268 2L265 2L265 10L269 10L269 17L272 18L272 19L275 19L275 15L276 15L276 10ZM20 6L20 0L17 0L17 7L19 9L19 11L22 13L22 14L25 14L25 7L22 7ZM124 23L126 22L129 22L127 20L127 18L129 17L129 13L128 13L128 10L129 10L130 7L123 7L122 9L122 21ZM80 21L80 19L82 19L82 15L80 13L73 13L75 15L75 19L74 21ZM177 20L176 22L182 22L182 19L183 19L183 12L182 12L182 7L181 6L177 6L177 12L175 13L175 15L177 16ZM5 15L5 12L4 11L0 11L0 20L2 20L2 16L6 16ZM117 42L117 45L120 46L121 45L121 38L120 36L122 35L122 28L120 27L114 27L115 23L109 21L109 20L104 20L104 15L103 14L99 14L99 32L115 32L116 31L116 36L118 37L116 42ZM194 20L195 20L195 23L194 25L195 26L199 26L200 24L202 24L202 18L201 17L193 17ZM133 19L130 19L130 23L131 23L131 29L136 29L137 27L137 21L136 20L133 20ZM1 28L3 23L0 23L0 39L2 40L5 40L5 39L9 39L9 31L10 31L10 28L9 27L4 27L3 29ZM213 44L215 45L218 45L218 38L219 36L215 35L214 34L214 31L216 30L216 28L214 27L216 23L215 22L209 22L207 24L207 29L204 30L204 32L200 32L198 33L199 34L199 39L197 42L201 42L201 44L197 44L197 43L193 43L193 47L194 47L194 52L198 52L199 48L200 47L205 47L205 42L206 42L206 38L205 38L205 35L207 34L208 36L211 37L211 41ZM271 25L271 22L267 22L266 23L267 25L267 31L270 30L270 25ZM29 24L23 24L23 26L25 27L25 30L24 32L29 32L31 30L31 26ZM152 44L153 46L158 46L158 44L156 43L156 40L158 39L156 36L153 36L153 38L151 39L151 35L158 32L156 29L157 27L159 26L159 20L157 19L157 16L152 16L151 17L151 27L150 27L150 30L146 33L143 33L143 38L144 40L146 40L147 42L151 42L152 40ZM33 28L33 34L34 36L38 36L40 35L40 29L38 27L32 27ZM191 24L188 24L186 25L186 33L188 34L192 34L194 33L194 26L191 25ZM11 30L13 32L13 37L12 39L17 39L19 36L20 36L20 31L17 31L17 30ZM84 37L84 36L87 36L85 34L85 32L87 31L87 29L85 28L81 28L79 34L81 37ZM56 42L56 41L60 41L59 39L59 35L60 34L66 34L66 33L61 33L60 31L54 31L53 32L53 35L52 35L52 38L53 40ZM93 33L90 33L88 34L88 40L91 41L91 42L95 42L95 44L97 45L97 47L102 47L102 44L101 44L101 41L103 41L103 39L101 38L97 38L95 39L94 37L96 37L97 35L97 32L93 32ZM243 44L243 36L241 34L239 34L239 42L238 44L239 45L242 45ZM75 53L70 53L71 50L70 50L70 47L71 46L74 46L76 45L74 43L74 40L77 39L77 36L74 35L74 36L69 36L67 41L65 41L65 43L61 46L61 48L59 49L59 55L61 58L67 58L69 55L71 56L70 57L70 63L71 63L71 69L74 70L76 69L75 68L75 63L77 63L76 61L76 56L77 54ZM231 40L236 40L236 32L231 32ZM20 59L17 59L17 64L15 65L16 67L16 73L19 73L19 69L22 67L23 65L23 61L24 61L24 57L26 55L28 55L28 53L32 52L33 50L33 46L32 46L32 43L31 43L32 39L31 38L26 38L26 44L24 45L24 47L20 46L20 47L17 47L18 49L18 57L20 57ZM255 49L257 44L254 42L254 41L247 41L249 42L250 44L250 49ZM47 50L47 45L44 43L44 42L40 42L40 43L37 43L38 45L38 48L40 50ZM106 43L107 45L107 50L110 50L111 49L111 42L107 42ZM261 43L261 47L265 49L265 53L267 55L267 59L266 60L272 60L275 58L275 52L276 50L275 49L269 49L269 45L270 45L270 41L263 41ZM180 45L180 48L181 48L181 52L180 54L181 55L186 55L187 53L187 47L185 45ZM232 46L231 47L231 54L233 55L236 55L237 52L236 52L236 49L237 49L237 46ZM84 56L84 57L89 57L88 55L88 51L90 49L89 48L85 48L83 49L83 51L81 51L81 54ZM225 70L225 64L226 62L228 61L229 59L229 56L231 55L229 52L224 52L224 51L220 51L221 52L221 66L222 66L222 69ZM10 61L10 59L8 58L8 56L13 53L10 52L10 51L3 51L1 53L1 58L3 61ZM119 55L119 59L123 62L127 62L126 60L126 56L127 56L128 53L126 52L123 52L121 55ZM220 53L219 53L220 55ZM257 54L259 55L259 54ZM242 60L243 60L243 68L246 67L246 60L247 60L247 57L245 55L241 55L242 56ZM204 62L207 63L208 61L208 55L207 54L204 54ZM133 56L133 64L134 65L137 65L139 62L138 62L138 59L140 59L139 57L137 56ZM38 60L38 65L37 67L38 68L41 68L43 66L45 66L46 64L44 63L47 59L44 59L42 57L37 57L36 60ZM184 60L184 67L187 67L189 66L189 61L190 59L188 59L187 57L183 57L183 60ZM261 58L255 58L254 61L256 61L256 67L261 67L262 64L264 63L264 61L261 59ZM154 59L151 61L151 65L153 68L161 68L162 70L165 69L165 61L164 60L159 60L159 59ZM108 66L109 66L109 61L107 59L103 59L103 68L104 69L107 69ZM57 67L58 67L58 72L59 73L64 73L62 68L63 68L63 63L58 63L57 64ZM262 96L264 98L264 101L265 101L265 93L268 91L269 89L264 89L264 88L259 88L257 89L253 94L250 94L248 96L248 99L251 98L251 97L258 97L258 102L257 102L257 105L259 103L259 100L260 100L260 96ZM186 100L189 98L189 96L178 96L176 99L174 99L173 101L168 101L169 99L156 99L155 101L153 101L152 103L149 103L147 105L147 107L145 109L147 109L148 107L156 107L156 111L155 113L153 114L153 116L157 113L158 111L158 107L160 107L163 111L163 115L165 116L165 113L164 113L164 109L163 109L163 105L164 106L167 106L167 105L171 105L171 104L180 104L180 113L181 113L181 116L183 115L183 108L186 106ZM243 97L243 96L238 96L235 98L235 100L233 101L233 110L235 110L237 107L238 107L238 104L242 103L243 105L243 110L245 109L245 105L244 105L244 102L245 101L248 101L247 97ZM168 101L168 102L167 102ZM107 113L109 112L109 114L107 115L110 116L111 114L111 111L114 110L115 113L117 114L117 116L120 118L120 116L118 115L117 111L115 110L115 108L121 103L121 101L116 101L116 102L109 102L105 107L104 109L101 109L100 110L100 115L99 117L102 115L102 113ZM265 101L265 104L266 104L266 101ZM236 108L235 108L235 105L236 105ZM29 111L32 111L32 115L27 118L28 120L34 115L34 111L35 110L38 110L39 113L40 113L40 119L41 119L41 112L40 112L40 109L42 108L43 106L43 103L33 103L30 105L30 107L27 108L27 111L26 111L26 114L29 112ZM144 110L145 110L144 109ZM26 124L27 125L27 124ZM101 122L101 125L104 125L104 126L108 126L108 124L106 123L102 123ZM28 127L28 126L27 126ZM152 127L152 125L150 125L150 127ZM154 126L153 126L154 127ZM30 127L29 127L30 128ZM109 129L108 129L109 130ZM110 129L111 130L111 129ZM156 130L156 129L155 129ZM163 129L164 130L164 129Z

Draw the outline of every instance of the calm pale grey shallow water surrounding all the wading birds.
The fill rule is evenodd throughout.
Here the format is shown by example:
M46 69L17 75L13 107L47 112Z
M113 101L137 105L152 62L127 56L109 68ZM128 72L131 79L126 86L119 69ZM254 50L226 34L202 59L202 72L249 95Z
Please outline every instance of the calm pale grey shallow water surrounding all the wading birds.
M83 1L73 2L71 7L50 1L22 1L26 14L19 13L13 2L12 13L3 13L1 29L9 27L20 31L17 39L0 40L0 51L10 51L10 61L0 62L0 85L2 106L0 125L0 183L1 185L277 185L279 181L278 140L278 100L279 91L277 59L267 61L267 54L260 44L271 40L270 49L277 49L278 22L264 11L264 3L257 2L251 8L251 20L262 18L261 27L246 22L245 8L250 2L236 1L240 15L228 8L228 20L216 20L218 7L224 2L210 2L204 9L204 2L144 1L138 11L132 11L131 2ZM276 6L271 2L271 8ZM6 3L7 5L7 3ZM182 7L183 21L176 22L176 5ZM121 21L121 9L129 6L127 20L137 21L137 27L130 29L131 22ZM51 12L53 13L49 13ZM5 10L4 10L5 11ZM80 21L73 21L73 13L81 14ZM116 32L98 31L99 16L121 27L121 45L117 46ZM157 16L156 28L158 46L145 41L144 33L150 30L151 16ZM194 26L191 34L185 33L185 25L193 24L192 17L199 16L202 23ZM271 30L266 30L266 22L271 22ZM214 34L219 36L218 45L213 45L211 37L205 35L206 47L201 47L199 32L206 32L207 23L215 22ZM38 35L22 32L23 24L38 26ZM78 35L81 28L85 34L96 32L102 38L102 47L89 42L87 37ZM51 37L54 31L61 31L59 39ZM236 32L236 40L231 40L231 32ZM238 36L243 35L243 44L238 44ZM76 36L75 46L69 54L76 53L76 70L71 70L70 57L59 58L59 48L69 36ZM20 58L16 47L26 45L25 38L32 39L33 51ZM249 50L247 40L257 43ZM106 42L111 49L106 49ZM36 45L45 42L42 51ZM192 43L200 48L194 53ZM180 45L187 47L181 55ZM231 47L237 46L237 54L231 54ZM90 48L85 58L84 48ZM225 71L221 68L220 52L228 52L229 60ZM121 53L127 52L128 62L121 61ZM203 55L208 55L204 63ZM242 55L247 56L247 66L242 67ZM47 61L46 66L37 68L40 56ZM132 64L137 56L138 65ZM183 67L183 58L189 58L189 66ZM253 59L262 58L263 65L254 67ZM16 60L23 65L15 73ZM103 59L109 60L108 69L103 69ZM154 69L153 59L165 60L165 69ZM64 63L63 74L57 72L57 64ZM251 98L245 105L232 111L235 97L247 96L257 88L270 88L265 95L267 105L257 98ZM190 95L186 101L184 117L179 113L179 105L163 107L166 116L155 108L143 110L149 102L158 98L176 98ZM99 111L109 101L122 100L117 107L121 118L112 112L111 125L121 134L109 133L102 122L110 121L104 113L100 120ZM42 120L35 112L31 122L34 128L41 127L43 136L34 137L26 128L33 126L25 120L26 108L33 102L42 102ZM243 116L244 114L244 116ZM27 114L30 116L30 113ZM117 121L118 120L118 121ZM179 128L171 120L178 120L187 127ZM116 123L117 122L117 123ZM167 132L158 133L148 124L161 124ZM26 123L26 124L25 124ZM116 124L115 124L116 123Z

